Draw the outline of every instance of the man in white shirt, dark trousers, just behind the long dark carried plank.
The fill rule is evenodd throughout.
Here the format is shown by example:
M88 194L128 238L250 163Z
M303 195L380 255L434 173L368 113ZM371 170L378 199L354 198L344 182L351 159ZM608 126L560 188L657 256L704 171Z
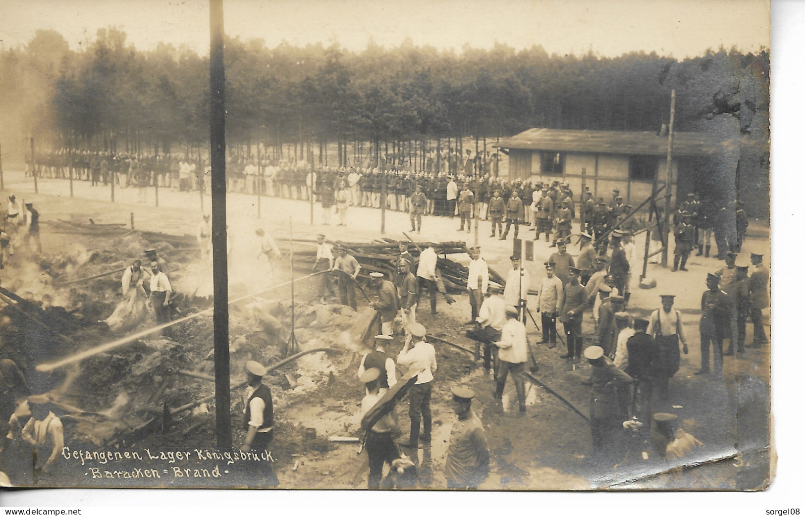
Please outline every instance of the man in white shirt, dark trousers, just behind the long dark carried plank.
M411 324L411 336L414 347L408 349L408 343L397 357L399 365L406 365L408 370L419 371L416 383L408 391L410 405L408 415L411 417L411 433L403 446L417 448L419 446L419 422L422 422L422 440L431 442L431 391L433 374L436 372L436 349L425 342L425 327L422 324Z

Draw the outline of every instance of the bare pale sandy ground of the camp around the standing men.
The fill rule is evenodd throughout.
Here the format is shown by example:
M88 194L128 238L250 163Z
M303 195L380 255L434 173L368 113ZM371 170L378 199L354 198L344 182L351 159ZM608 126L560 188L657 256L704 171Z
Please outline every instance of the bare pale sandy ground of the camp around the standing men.
M109 190L91 187L89 183L74 181L74 196L69 196L67 180L39 180L39 194L34 194L30 178L6 171L6 192L14 192L18 199L33 201L43 221L43 245L63 246L55 235L48 234L48 224L59 220L87 221L97 223L130 222L134 213L134 225L164 233L194 234L200 221L202 204L207 210L209 196L202 198L198 192L171 192L159 189L159 208L155 204L153 188L146 192L137 189L116 189L114 204L109 203ZM6 193L4 192L4 193ZM7 193L6 193L7 195ZM5 196L5 195L4 195ZM141 197L142 196L142 197ZM144 202L139 202L140 200ZM254 262L257 241L254 229L263 227L275 237L289 237L291 223L297 238L313 238L316 233L325 233L330 240L371 241L379 236L380 212L372 208L350 208L346 227L321 224L320 205L313 207L314 224L311 225L310 204L303 200L262 198L258 218L254 196L230 194L227 196L229 230L233 233L233 263L230 263L230 299L233 295L245 295L282 279L287 279L287 270L275 270L267 274L265 265ZM332 217L331 224L336 223ZM464 240L475 243L473 233L460 233L458 219L425 217L423 231L416 240L451 241ZM406 213L386 212L387 237L403 239L403 231L410 229ZM574 226L576 231L576 226ZM511 238L499 241L489 237L489 222L481 222L478 244L481 253L495 270L506 275L508 257L512 252ZM521 227L520 236L533 233ZM636 242L638 255L642 255L642 237ZM750 226L745 251L764 250L769 246L768 229L762 225ZM532 283L544 275L542 262L553 250L547 242L535 242L535 260L526 262ZM456 257L460 261L467 257ZM634 316L647 317L659 307L658 295L673 293L675 308L683 313L690 353L683 355L679 373L671 380L671 399L655 402L654 411L671 412L705 446L678 463L667 463L658 458L650 444L634 444L634 450L623 454L614 464L595 464L591 460L591 443L588 423L571 411L553 395L538 385L528 383L525 416L516 411L514 386L509 382L502 402L492 398L493 380L483 369L473 363L472 357L447 345L436 344L439 370L433 394L434 436L429 449L419 449L416 461L420 466L423 487L443 489L444 456L450 426L454 420L449 405L450 388L457 384L472 386L477 392L474 408L483 420L493 457L493 473L482 485L484 489L757 489L764 484L768 470L768 389L769 353L766 349L750 349L741 357L725 357L725 381L716 378L694 376L700 366L698 319L701 293L705 290L704 279L709 271L722 266L714 258L691 256L688 272L671 273L670 269L649 265L647 276L656 279L657 287L643 290L633 279L629 311ZM204 265L200 275L204 275ZM637 276L639 273L636 273ZM297 276L299 273L297 273ZM307 283L307 284L306 284ZM316 297L312 281L299 282L295 294L302 302L311 302ZM281 299L290 295L287 288L272 292L270 297ZM268 297L268 296L266 296ZM465 296L456 296L459 302L452 306L440 300L439 315L434 317L427 310L419 311L419 320L428 332L472 348L472 341L464 337L464 322L469 320L469 303ZM363 302L359 301L361 312ZM530 308L535 312L535 300L530 299ZM530 341L540 340L541 334L533 324L527 324ZM248 328L238 328L244 330ZM768 332L768 328L766 328ZM230 325L230 333L232 328ZM592 334L592 321L585 316L584 332ZM748 334L751 338L751 324ZM308 334L310 337L311 334ZM315 335L314 335L315 336ZM234 336L233 336L234 337ZM303 343L304 347L305 343ZM390 355L395 357L402 345L394 343ZM539 362L536 377L551 386L569 402L587 413L589 387L581 385L588 377L588 365L568 365L559 359L564 352L561 344L555 349L545 345L533 345ZM365 453L357 456L356 444L334 444L329 436L359 436L358 409L361 386L357 384L358 356L343 357L336 361L317 359L300 365L297 373L314 374L316 369L332 369L334 374L327 379L312 382L316 390L294 396L280 392L275 405L278 432L272 455L276 460L274 469L284 488L316 489L363 489L366 481ZM284 371L284 369L283 369ZM235 378L233 378L235 379ZM281 389L278 382L275 390ZM190 385L190 384L188 384ZM196 385L197 383L193 384ZM290 390L285 385L285 390ZM204 385L204 393L211 387ZM200 392L200 391L199 391ZM188 399L195 398L188 387ZM183 402L188 401L185 399ZM234 399L234 398L233 398ZM512 410L514 408L514 411ZM401 431L407 435L407 402L399 407ZM237 418L233 418L237 420ZM198 424L201 423L201 424ZM680 423L682 424L682 423ZM196 427L193 427L196 425ZM316 428L316 438L305 436L306 428ZM188 431L189 429L189 431ZM188 433L184 433L188 431ZM235 442L241 438L235 431ZM131 444L142 448L171 448L177 444L214 446L213 419L204 413L177 423L166 435L147 436L142 442ZM630 448L630 449L632 449ZM738 452L737 450L740 450ZM648 452L643 459L640 451ZM718 460L723 459L723 460ZM65 466L72 467L72 464ZM295 467L295 468L294 468ZM64 484L84 485L81 477L61 477ZM170 485L214 485L212 481L192 479L171 481ZM127 485L109 483L109 485ZM132 482L128 485L143 485ZM145 485L148 485L147 483ZM155 485L165 485L165 482Z

